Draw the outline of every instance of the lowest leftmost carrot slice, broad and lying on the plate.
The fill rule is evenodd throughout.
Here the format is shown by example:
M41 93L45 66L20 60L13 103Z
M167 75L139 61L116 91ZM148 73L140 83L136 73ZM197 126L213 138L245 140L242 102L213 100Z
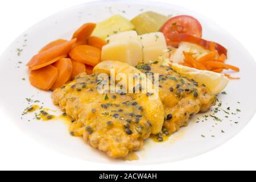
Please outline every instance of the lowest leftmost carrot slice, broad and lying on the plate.
M30 83L36 88L49 90L58 77L57 68L53 65L30 71Z

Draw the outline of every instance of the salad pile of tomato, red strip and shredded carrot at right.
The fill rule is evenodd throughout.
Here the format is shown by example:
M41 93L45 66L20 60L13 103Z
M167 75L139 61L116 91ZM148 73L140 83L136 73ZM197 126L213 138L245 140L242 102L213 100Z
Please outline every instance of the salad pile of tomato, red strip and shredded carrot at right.
M164 24L161 31L166 37L168 46L180 48L181 43L188 42L205 49L203 53L199 54L197 50L191 51L191 46L188 46L190 47L189 50L184 49L182 51L184 59L176 60L179 63L187 67L216 73L222 73L224 69L232 69L236 72L240 71L239 68L233 65L225 64L228 53L226 48L220 44L201 39L202 26L200 22L192 16L181 15L171 18ZM175 51L176 50L173 51L174 54ZM233 78L228 74L225 74L225 76L231 79L239 79Z

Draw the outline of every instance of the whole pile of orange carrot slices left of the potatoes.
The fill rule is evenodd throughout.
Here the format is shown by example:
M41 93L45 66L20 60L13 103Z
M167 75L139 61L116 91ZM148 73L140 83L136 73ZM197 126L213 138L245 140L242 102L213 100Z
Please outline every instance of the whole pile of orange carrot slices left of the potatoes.
M79 73L92 73L93 66L100 63L102 46L106 45L104 40L90 36L95 27L94 23L86 23L71 40L59 39L43 47L27 64L31 85L55 90Z

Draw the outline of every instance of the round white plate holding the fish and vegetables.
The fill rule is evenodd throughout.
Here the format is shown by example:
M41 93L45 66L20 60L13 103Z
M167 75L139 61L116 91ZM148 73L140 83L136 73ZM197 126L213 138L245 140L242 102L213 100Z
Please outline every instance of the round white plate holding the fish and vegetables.
M72 32L83 23L99 22L113 14L121 14L131 19L147 10L166 15L187 14L195 16L203 25L203 37L205 39L221 43L228 48L228 63L241 68L240 73L232 75L241 77L241 80L231 81L225 90L228 94L220 94L219 96L222 108L226 110L227 107L230 107L231 109L229 118L225 118L227 114L224 111L219 111L216 115L223 119L222 122L216 122L213 118L208 118L206 122L196 123L197 117L201 121L203 119L202 115L205 115L199 114L192 119L188 127L184 127L178 133L172 135L167 142L154 143L152 140L147 140L144 149L137 152L140 160L123 162L109 159L102 152L85 144L82 139L71 137L64 122L42 122L33 119L32 114L21 115L24 108L28 106L25 98L42 101L45 107L59 110L58 107L52 104L51 92L38 90L32 87L28 81L25 64L40 48L58 38L71 38ZM18 49L22 49L20 55ZM44 19L29 28L7 48L0 60L0 82L2 85L0 104L1 109L10 117L10 121L15 122L20 130L47 147L66 155L93 162L153 164L191 158L213 150L213 148L234 137L246 126L256 110L254 94L256 90L256 64L249 52L216 23L190 10L170 4L146 1L101 1L75 6ZM19 63L19 61L22 61L22 63ZM24 81L22 78L26 78L26 80ZM237 112L237 109L240 109L241 112ZM236 115L231 114L232 112ZM23 117L23 119L20 117ZM202 135L205 137L202 137ZM212 135L215 137L211 137Z

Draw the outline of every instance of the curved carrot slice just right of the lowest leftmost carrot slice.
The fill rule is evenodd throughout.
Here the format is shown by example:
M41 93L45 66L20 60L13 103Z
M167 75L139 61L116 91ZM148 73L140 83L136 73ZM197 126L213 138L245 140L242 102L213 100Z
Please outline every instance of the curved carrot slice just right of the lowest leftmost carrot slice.
M72 74L72 63L71 59L62 58L56 63L53 64L54 67L58 70L58 78L55 83L52 85L51 90L60 88L69 80Z

